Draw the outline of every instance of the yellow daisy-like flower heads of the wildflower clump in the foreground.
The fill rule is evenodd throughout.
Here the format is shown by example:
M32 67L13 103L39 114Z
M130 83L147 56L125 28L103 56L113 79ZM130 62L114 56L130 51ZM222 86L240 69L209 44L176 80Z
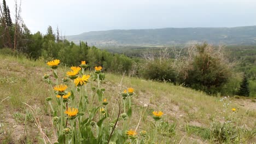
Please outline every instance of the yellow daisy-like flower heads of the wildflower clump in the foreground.
M56 69L60 64L60 60L59 59L54 59L53 61L50 61L47 64L52 69L54 69L55 73L56 73ZM82 61L81 64L79 65L79 67L71 67L70 68L71 71L67 71L66 75L68 76L69 79L73 80L73 83L74 83L75 86L81 87L83 85L86 85L86 83L88 83L88 81L90 79L90 75L84 75L84 70L85 70L86 67L88 67L86 62ZM79 76L79 71L80 70L82 70L82 76ZM98 76L98 81L99 81L100 75L102 74L101 70L102 70L101 66L95 67L95 74L97 74L97 76ZM48 79L48 77L49 77L49 75L45 75L44 79ZM92 75L92 77L94 77L94 75ZM98 87L100 87L99 82L98 82ZM61 113L66 113L68 118L73 119L73 118L77 117L79 111L78 111L78 109L76 109L74 107L73 108L68 107L67 101L68 101L69 97L71 96L71 92L67 92L66 91L67 88L68 88L67 85L63 85L63 84L58 85L57 84L57 86L54 86L53 89L56 91L56 94L57 94L56 97L60 98L61 101L63 100L64 103L66 103L66 111L65 112L62 111ZM132 95L134 95L134 94L135 94L134 89L131 88L131 87L129 87L127 89L124 89L124 91L120 93L120 95L123 96L124 113L122 113L122 117L124 118L124 120L126 120L126 118L128 116L127 113L129 112L129 111L127 113L125 112L125 100L127 98L129 98L129 101L128 101L129 102L129 110L131 111L131 98L132 98ZM101 101L102 101L102 105L104 105L105 107L104 108L100 107L100 113L101 113L101 115L104 115L105 113L107 113L108 100L106 98L104 98L103 100L101 99ZM61 105L62 104L63 103L61 102ZM80 108L79 108L79 110L80 110ZM235 110L232 109L232 111L235 111ZM153 111L152 113L153 113L153 118L155 119L155 121L158 121L159 119L162 118L162 115L164 115L164 113L162 111ZM80 112L79 112L79 115L80 115ZM126 121L124 121L124 123L126 123ZM66 129L67 130L64 130L64 131L70 131L70 129L68 129L68 128L66 128ZM126 127L124 128L124 130L126 130ZM129 139L137 139L136 130L130 129L130 130L126 131L125 134L129 137ZM147 135L147 131L142 130L139 134L141 136L145 137Z

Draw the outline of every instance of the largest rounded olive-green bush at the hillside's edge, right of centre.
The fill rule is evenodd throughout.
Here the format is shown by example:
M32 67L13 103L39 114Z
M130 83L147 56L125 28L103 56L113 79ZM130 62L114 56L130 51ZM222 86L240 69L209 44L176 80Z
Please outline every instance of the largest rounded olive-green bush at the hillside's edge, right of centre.
M216 54L213 47L207 44L196 46L193 61L184 67L185 73L180 73L186 86L200 89L207 93L217 93L228 82L231 69L227 62ZM187 75L184 75L187 74Z

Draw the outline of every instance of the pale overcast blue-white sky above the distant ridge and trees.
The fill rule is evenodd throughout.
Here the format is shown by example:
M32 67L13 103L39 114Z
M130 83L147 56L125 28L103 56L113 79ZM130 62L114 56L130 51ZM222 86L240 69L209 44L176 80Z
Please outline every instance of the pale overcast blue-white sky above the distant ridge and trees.
M5 1L14 16L15 0ZM256 25L255 0L22 0L21 9L32 33Z

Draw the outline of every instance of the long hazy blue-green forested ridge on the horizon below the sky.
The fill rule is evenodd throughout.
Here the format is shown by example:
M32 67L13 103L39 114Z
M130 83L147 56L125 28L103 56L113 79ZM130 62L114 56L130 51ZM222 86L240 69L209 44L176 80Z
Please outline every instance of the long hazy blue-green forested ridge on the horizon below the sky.
M256 26L218 28L114 29L68 35L66 39L95 46L156 46L202 43L226 45L256 44Z

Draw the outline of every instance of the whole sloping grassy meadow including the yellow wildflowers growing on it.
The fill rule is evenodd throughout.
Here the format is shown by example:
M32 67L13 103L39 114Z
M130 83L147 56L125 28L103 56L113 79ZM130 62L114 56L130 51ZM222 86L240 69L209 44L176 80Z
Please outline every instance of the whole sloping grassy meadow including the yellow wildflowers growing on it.
M213 97L101 69L75 73L81 79L90 75L77 85L67 78L70 67L61 63L55 71L45 61L24 56L0 59L1 143L256 141L255 98ZM55 91L61 84L71 92L68 101L63 98L66 90ZM75 109L67 111L65 104Z

